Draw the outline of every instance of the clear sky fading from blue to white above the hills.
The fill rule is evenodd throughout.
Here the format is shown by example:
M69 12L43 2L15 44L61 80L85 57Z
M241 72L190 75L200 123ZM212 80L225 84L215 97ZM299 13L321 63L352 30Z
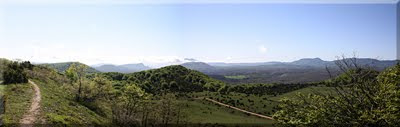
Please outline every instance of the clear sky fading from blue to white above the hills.
M5 2L0 45L0 58L89 65L393 60L396 5Z

